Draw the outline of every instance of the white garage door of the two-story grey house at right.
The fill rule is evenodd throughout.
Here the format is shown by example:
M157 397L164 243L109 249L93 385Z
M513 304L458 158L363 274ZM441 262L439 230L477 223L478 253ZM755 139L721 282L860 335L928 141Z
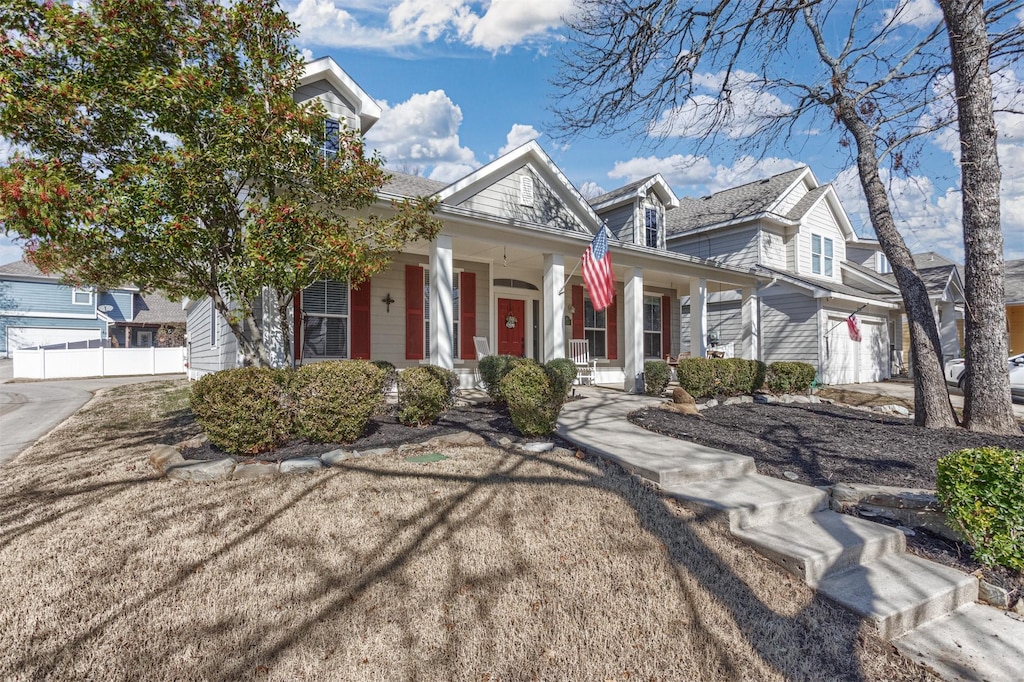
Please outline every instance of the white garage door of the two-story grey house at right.
M846 317L828 317L827 354L822 380L826 384L881 381L889 370L889 340L883 321L860 321L860 341L850 338Z

